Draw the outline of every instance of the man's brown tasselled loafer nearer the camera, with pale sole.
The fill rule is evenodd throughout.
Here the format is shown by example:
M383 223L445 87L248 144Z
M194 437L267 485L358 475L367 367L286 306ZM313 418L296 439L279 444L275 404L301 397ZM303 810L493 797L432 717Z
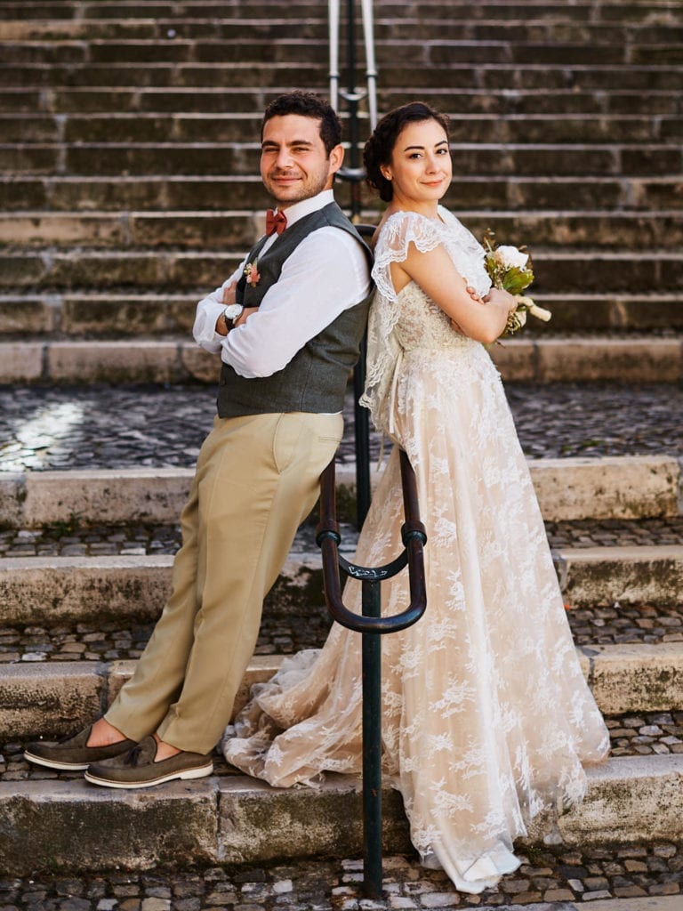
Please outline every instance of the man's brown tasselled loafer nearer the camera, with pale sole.
M123 755L88 767L86 781L108 788L148 788L172 782L204 778L213 772L210 752L178 752L155 763L157 741L151 735Z

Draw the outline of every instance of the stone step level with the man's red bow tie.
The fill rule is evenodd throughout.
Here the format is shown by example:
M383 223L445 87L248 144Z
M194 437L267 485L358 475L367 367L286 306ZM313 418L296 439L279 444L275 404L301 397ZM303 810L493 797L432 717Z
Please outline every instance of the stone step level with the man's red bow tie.
M366 213L376 221L375 212ZM460 211L460 219L482 237L489 228L501 241L532 245L539 273L544 255L572 248L577 253L628 248L638 251L678 251L683 246L683 210L656 211ZM0 248L61 249L77 246L97 249L153 250L178 247L221 251L248 248L262 230L262 211L128 211L49 212L0 214ZM542 239L536 255L534 239Z

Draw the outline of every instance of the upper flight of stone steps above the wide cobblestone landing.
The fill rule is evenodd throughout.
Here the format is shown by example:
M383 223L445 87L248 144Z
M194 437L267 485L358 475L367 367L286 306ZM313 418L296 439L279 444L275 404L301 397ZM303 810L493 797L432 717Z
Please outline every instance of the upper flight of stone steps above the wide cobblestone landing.
M505 377L677 382L678 2L374 8L380 110L450 113L447 204L534 253L554 317L495 349ZM213 380L194 305L259 230L264 104L326 89L326 4L0 14L0 382Z

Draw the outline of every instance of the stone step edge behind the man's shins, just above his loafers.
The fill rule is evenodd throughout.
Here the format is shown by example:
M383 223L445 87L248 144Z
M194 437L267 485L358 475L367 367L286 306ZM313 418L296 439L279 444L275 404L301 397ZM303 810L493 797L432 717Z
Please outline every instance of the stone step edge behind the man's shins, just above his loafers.
M582 670L607 715L683 710L683 642L579 646ZM236 708L253 683L269 680L281 656L255 656ZM59 737L107 710L136 661L18 662L0 665L0 742Z

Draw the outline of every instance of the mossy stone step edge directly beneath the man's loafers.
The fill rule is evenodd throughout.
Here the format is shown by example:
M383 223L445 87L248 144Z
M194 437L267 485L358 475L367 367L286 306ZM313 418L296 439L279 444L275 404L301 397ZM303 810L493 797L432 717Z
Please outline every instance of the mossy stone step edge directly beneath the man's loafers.
M637 844L683 838L683 755L610 759L586 770L583 804L561 817L567 845ZM383 794L385 850L409 850L401 799ZM168 783L153 792L81 781L0 783L0 870L36 865L145 869L159 861L260 863L361 850L361 798L353 779L319 789L273 789L235 776ZM534 824L527 842L541 841Z

